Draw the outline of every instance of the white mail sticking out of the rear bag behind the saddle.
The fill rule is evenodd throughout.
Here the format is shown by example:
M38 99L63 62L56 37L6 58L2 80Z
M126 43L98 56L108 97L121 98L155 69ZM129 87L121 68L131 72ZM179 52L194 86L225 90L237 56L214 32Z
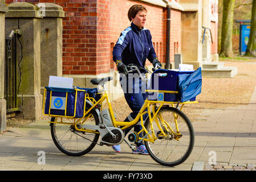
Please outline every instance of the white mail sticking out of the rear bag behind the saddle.
M73 78L50 76L48 86L72 89L73 88Z

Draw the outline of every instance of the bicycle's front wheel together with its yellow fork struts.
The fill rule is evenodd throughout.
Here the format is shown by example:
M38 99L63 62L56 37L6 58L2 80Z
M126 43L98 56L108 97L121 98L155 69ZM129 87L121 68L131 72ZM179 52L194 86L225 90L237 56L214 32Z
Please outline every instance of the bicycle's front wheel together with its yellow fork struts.
M162 134L156 122L159 123ZM155 142L145 141L151 158L163 166L177 166L188 159L194 146L194 130L189 118L174 107L162 107L153 120L145 121L145 128L155 132ZM145 135L145 133L144 133Z

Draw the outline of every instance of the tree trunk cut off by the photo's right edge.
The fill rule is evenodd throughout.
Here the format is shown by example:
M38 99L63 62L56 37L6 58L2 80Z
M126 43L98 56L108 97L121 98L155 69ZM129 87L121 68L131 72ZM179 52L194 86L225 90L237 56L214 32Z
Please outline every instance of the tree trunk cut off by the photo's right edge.
M249 42L246 48L245 56L256 56L256 0L253 0L251 9L251 28Z

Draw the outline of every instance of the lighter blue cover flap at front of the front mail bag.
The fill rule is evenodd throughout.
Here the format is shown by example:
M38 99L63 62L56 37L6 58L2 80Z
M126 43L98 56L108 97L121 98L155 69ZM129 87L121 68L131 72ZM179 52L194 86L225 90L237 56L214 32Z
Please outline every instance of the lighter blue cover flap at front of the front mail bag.
M193 73L178 75L178 92L180 93L181 102L196 100L196 96L201 93L201 88L201 67Z

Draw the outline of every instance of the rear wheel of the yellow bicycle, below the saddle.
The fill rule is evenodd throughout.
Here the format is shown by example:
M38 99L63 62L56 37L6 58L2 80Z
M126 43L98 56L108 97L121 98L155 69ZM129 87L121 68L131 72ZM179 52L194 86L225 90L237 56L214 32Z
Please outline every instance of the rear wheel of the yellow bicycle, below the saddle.
M94 121L92 121L92 123L94 122L93 124L98 125L99 124L98 115L96 114L95 111L92 111L92 115L94 118ZM70 118L70 119L74 119L74 118ZM55 117L52 117L51 121L54 122ZM87 121L86 121L86 123L87 123ZM50 126L51 126L51 137L52 137L52 140L54 141L55 146L66 155L82 156L84 154L87 154L95 147L97 140L99 139L99 134L92 135L91 133L75 131L74 126L72 126L72 125L51 123ZM56 130L60 130L60 131L63 130L64 131L63 135L57 134ZM71 130L74 130L75 133ZM81 136L83 136L84 138ZM91 136L92 138L86 139L89 136ZM79 140L79 143L78 143L78 140ZM65 143L67 143L67 144L65 144ZM73 148L71 148L72 146L73 146Z

